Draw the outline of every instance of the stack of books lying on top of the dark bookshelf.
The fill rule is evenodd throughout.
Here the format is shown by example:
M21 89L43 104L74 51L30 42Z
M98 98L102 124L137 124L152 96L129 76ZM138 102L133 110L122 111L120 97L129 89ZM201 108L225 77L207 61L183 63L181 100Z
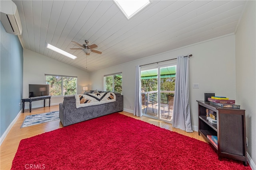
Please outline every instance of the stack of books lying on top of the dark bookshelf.
M221 96L212 96L211 98L208 98L208 101L211 104L214 104L216 106L224 107L224 108L234 108L234 109L240 109L240 105L235 104L235 100L230 100L227 97L221 97Z

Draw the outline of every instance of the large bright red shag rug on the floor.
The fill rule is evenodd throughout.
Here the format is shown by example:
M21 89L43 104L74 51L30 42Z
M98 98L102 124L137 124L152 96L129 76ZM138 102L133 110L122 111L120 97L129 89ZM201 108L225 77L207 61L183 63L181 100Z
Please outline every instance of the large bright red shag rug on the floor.
M20 141L12 170L250 170L205 142L119 113Z

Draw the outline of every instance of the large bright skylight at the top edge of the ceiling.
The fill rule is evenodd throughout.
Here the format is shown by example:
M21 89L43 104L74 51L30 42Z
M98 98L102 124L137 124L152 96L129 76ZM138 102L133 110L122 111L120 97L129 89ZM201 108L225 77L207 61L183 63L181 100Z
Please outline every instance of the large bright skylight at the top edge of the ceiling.
M114 2L128 20L150 4L149 0L114 0Z

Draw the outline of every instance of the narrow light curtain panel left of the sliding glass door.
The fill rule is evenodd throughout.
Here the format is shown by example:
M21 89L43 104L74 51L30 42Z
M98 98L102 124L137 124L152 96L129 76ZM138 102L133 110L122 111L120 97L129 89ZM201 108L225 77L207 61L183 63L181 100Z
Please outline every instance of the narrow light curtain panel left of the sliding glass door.
M141 83L140 83L140 66L136 66L135 74L135 100L134 100L134 113L133 115L142 117L142 107L141 107Z

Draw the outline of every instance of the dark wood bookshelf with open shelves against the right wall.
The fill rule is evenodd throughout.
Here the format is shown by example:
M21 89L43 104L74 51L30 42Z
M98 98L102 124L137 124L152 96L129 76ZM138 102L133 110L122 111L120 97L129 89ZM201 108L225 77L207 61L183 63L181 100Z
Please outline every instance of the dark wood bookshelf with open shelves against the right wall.
M221 158L241 160L247 166L245 110L223 108L210 104L210 102L197 102L198 135L202 135L217 152L219 160ZM216 112L217 124L207 120L206 109ZM218 147L211 143L207 135L217 136Z

